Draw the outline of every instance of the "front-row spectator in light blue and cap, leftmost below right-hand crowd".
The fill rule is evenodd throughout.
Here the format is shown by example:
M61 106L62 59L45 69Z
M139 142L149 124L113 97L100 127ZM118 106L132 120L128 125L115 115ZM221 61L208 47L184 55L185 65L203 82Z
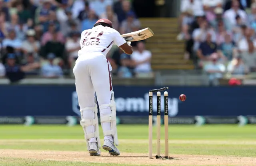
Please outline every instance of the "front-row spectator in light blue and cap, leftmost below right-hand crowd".
M218 85L218 79L222 78L225 71L225 66L221 63L218 63L218 55L214 54L211 58L211 63L208 63L204 66L204 71L208 74L209 84Z

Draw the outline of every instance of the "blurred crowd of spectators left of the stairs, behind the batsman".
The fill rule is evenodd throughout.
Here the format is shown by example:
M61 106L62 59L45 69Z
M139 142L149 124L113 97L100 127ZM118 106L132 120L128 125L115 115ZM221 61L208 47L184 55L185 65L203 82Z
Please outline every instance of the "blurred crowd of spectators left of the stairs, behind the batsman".
M72 77L80 34L100 18L120 34L141 28L130 0L0 0L0 77ZM151 52L143 42L132 45L132 55L115 46L108 53L114 75L151 72Z

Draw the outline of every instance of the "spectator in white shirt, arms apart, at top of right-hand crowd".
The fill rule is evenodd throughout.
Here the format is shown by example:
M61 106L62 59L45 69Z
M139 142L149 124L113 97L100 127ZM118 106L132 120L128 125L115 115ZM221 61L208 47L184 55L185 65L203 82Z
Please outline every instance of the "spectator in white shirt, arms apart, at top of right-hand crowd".
M232 26L236 25L236 16L239 15L240 18L246 23L247 21L247 14L244 10L240 9L240 4L238 1L232 1L232 7L231 9L224 12L224 18L226 20L229 20L230 24Z

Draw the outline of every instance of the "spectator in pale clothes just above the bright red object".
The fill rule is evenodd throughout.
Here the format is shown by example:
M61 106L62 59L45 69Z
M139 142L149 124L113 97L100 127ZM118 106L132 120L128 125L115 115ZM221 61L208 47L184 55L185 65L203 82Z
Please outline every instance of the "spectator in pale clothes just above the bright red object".
M248 74L249 69L239 56L234 61L230 62L228 65L228 72L230 72L232 75L245 75Z

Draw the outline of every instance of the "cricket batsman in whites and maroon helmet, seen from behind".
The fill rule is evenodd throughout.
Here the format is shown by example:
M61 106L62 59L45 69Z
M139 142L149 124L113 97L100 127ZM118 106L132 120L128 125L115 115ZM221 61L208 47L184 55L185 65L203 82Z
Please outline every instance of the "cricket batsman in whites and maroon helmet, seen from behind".
M119 156L116 130L116 103L111 82L112 67L106 55L112 45L116 44L125 53L132 54L130 42L127 43L116 31L112 22L107 19L98 20L92 29L81 34L78 59L73 73L76 79L76 92L81 112L80 124L87 141L90 156L100 156L100 134L98 126L98 108L95 93L100 108L100 123L104 133L102 148L111 155Z

